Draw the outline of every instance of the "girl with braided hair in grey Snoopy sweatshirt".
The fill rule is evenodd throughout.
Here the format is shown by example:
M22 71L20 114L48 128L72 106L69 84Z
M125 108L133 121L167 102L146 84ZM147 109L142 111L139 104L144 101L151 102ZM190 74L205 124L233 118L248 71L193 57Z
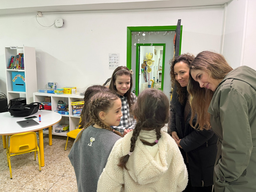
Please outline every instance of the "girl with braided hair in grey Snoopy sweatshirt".
M90 121L82 128L68 154L79 192L97 190L98 179L111 149L122 137L110 127L119 125L121 107L119 97L109 92L98 92L90 100Z

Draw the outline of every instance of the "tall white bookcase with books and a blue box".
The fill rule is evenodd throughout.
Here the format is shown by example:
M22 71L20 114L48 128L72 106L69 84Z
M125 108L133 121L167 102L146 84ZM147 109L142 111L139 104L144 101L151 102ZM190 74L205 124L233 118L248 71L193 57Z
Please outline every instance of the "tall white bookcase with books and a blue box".
M5 65L7 68L10 57L24 54L24 69L6 69L6 87L7 87L7 100L24 97L27 104L33 102L33 93L37 91L37 67L36 67L36 49L35 47L18 47L17 49L11 49L5 47ZM25 72L25 87L26 91L14 91L12 72Z

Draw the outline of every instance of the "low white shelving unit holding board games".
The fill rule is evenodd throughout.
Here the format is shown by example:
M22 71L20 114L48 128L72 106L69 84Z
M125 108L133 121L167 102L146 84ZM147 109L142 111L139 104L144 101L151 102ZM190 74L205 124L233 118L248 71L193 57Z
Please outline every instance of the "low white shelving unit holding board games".
M80 93L76 93L76 94L52 94L52 93L39 93L39 92L33 93L34 102L44 102L45 97L51 98L51 111L55 111L57 109L57 104L60 100L67 103L69 108L69 114L62 115L61 121L52 127L52 134L67 136L67 132L76 129L80 121L80 116L73 116L71 102L75 102L79 99L83 101L84 96L80 95ZM60 124L69 124L69 130L61 133L56 133L54 128ZM43 133L48 133L48 130L43 131Z

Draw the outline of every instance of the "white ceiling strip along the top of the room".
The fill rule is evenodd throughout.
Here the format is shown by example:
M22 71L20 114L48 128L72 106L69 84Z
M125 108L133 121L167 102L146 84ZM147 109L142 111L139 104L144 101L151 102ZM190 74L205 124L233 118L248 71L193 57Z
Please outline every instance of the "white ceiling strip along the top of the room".
M223 5L232 0L1 0L0 16L37 12L109 11ZM65 4L65 5L64 5Z

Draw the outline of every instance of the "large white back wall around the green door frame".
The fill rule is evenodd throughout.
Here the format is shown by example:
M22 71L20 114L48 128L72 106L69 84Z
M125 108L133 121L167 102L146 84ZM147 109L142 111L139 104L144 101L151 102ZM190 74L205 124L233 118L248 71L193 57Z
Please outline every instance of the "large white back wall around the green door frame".
M182 53L219 52L223 10L52 14L38 18L45 26L62 18L61 28L42 27L35 14L1 16L0 91L6 93L5 46L36 47L38 88L45 88L48 81L56 81L58 87L76 86L83 91L111 77L109 53L119 53L120 65L126 65L127 26L176 25L182 19Z

